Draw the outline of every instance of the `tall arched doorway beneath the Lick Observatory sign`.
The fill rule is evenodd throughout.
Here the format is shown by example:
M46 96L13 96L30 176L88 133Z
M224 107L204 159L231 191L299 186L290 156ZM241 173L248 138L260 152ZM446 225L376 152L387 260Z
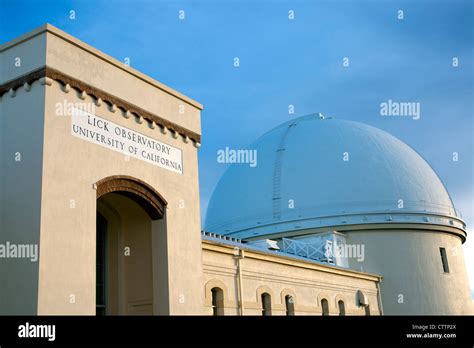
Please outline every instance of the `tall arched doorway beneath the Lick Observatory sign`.
M96 314L153 314L153 221L166 201L128 176L97 183Z

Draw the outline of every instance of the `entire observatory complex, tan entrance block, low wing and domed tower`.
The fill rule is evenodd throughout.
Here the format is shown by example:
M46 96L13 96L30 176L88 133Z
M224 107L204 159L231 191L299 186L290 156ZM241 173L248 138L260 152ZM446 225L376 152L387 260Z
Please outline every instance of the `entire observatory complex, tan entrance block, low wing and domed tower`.
M466 226L386 132L276 127L202 229L200 103L51 25L0 63L0 314L473 313Z

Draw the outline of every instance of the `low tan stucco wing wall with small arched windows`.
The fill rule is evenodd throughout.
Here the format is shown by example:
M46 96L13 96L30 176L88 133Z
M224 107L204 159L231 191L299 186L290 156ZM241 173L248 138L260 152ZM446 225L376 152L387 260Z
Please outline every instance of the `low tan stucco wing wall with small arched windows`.
M296 315L321 315L321 299L329 302L330 315L339 315L343 300L346 315L365 315L357 291L366 294L372 315L379 315L379 277L350 270L245 251L241 260L244 315L262 315L261 294L272 298L272 315L285 315L285 296L292 295ZM237 261L233 246L203 241L203 271L206 314L212 314L213 287L224 291L224 313L238 315Z

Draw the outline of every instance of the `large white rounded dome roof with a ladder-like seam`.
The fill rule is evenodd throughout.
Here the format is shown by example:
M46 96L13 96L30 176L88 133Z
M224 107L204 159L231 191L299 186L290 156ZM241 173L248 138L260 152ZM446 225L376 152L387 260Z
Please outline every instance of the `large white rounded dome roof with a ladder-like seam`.
M430 165L380 129L307 115L248 149L257 150L257 165L232 164L224 173L206 231L245 239L373 223L465 228Z

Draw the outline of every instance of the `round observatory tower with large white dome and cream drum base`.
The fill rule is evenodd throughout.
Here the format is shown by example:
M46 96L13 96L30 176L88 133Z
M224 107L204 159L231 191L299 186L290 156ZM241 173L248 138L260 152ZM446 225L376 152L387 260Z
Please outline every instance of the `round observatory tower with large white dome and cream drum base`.
M258 165L227 170L206 231L272 240L286 252L330 241L342 251L333 252L336 264L383 276L385 314L469 313L466 226L415 150L321 114L288 121L249 148Z

